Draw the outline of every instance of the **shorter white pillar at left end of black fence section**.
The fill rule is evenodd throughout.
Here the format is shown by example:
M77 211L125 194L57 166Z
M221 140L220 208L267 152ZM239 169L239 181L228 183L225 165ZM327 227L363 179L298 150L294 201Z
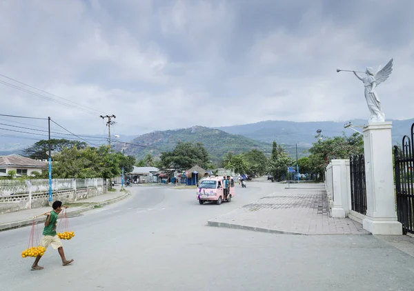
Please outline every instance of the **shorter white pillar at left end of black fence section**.
M344 218L349 212L348 184L349 174L346 173L346 159L334 159L332 163L333 207L332 217Z

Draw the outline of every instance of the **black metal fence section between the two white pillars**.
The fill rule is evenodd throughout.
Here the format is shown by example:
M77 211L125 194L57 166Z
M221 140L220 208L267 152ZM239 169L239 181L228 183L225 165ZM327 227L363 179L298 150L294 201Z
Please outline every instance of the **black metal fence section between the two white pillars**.
M349 158L351 170L351 208L366 214L366 183L364 154Z

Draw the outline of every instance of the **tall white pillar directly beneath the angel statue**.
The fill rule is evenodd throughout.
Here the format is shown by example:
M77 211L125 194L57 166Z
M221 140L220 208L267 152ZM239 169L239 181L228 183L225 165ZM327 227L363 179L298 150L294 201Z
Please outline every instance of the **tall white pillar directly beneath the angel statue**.
M367 205L362 224L372 234L402 234L395 211L391 128L392 122L364 127Z

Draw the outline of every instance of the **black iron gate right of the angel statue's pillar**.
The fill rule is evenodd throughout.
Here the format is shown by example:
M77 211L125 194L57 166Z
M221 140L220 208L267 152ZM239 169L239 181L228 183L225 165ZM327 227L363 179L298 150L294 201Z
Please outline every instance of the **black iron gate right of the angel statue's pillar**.
M414 233L414 123L411 137L404 135L402 149L394 145L395 195L403 232Z

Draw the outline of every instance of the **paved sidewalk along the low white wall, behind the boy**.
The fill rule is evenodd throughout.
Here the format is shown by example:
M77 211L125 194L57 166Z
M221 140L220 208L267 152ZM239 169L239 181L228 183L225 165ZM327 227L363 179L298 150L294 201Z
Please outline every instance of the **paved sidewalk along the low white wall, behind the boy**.
M128 195L128 192L107 192L105 194L101 194L99 196L91 197L88 199L70 202L68 204L73 205L73 207L70 206L68 208L68 217L76 217L81 214L81 212L91 210L95 208L95 206L103 206L110 203L115 203L121 199L128 197ZM32 224L34 216L48 212L50 210L52 210L51 207L41 207L0 214L0 231L30 225ZM34 219L34 221L39 222L44 221L44 219L44 217L39 217L37 219Z

